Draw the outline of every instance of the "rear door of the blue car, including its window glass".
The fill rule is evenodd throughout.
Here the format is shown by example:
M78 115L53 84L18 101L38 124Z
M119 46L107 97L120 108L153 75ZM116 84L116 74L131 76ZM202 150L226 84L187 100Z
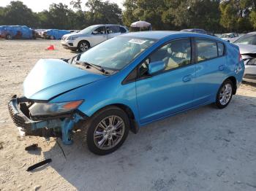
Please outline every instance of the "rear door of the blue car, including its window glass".
M225 45L211 39L195 38L195 104L214 101L225 79Z

